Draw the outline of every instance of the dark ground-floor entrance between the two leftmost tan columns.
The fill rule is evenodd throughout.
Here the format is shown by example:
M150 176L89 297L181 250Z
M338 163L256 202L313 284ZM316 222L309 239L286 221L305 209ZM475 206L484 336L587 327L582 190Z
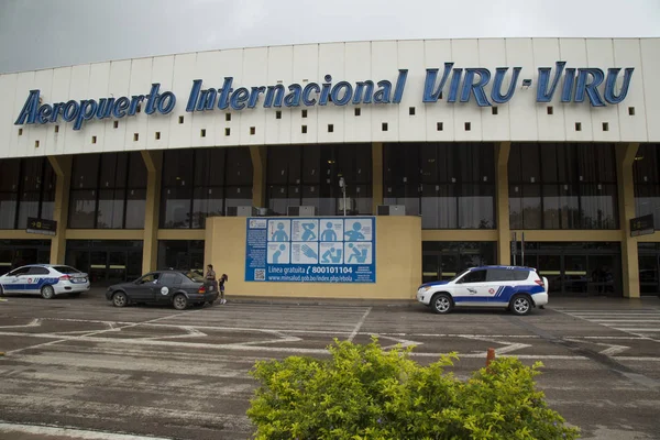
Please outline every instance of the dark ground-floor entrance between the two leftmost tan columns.
M142 275L140 240L69 240L66 264L89 274L95 286L110 286Z

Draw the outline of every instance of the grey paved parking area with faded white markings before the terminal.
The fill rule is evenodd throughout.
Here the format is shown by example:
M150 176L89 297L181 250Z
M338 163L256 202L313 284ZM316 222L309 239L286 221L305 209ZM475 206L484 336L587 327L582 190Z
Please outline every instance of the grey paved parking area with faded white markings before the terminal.
M81 298L0 302L0 438L246 439L256 360L327 355L333 338L455 351L460 377L497 355L541 361L539 386L584 438L659 439L660 300L558 299L515 317L424 306L232 300L176 311ZM68 427L78 430L64 429Z

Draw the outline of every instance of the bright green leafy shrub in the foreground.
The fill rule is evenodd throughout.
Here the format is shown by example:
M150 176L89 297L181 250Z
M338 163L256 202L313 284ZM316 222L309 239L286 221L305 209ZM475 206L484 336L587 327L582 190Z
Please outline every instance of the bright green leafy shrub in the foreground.
M257 439L576 439L548 408L532 367L499 358L460 381L444 367L411 361L413 348L384 351L334 340L329 360L257 362L261 383L248 416Z

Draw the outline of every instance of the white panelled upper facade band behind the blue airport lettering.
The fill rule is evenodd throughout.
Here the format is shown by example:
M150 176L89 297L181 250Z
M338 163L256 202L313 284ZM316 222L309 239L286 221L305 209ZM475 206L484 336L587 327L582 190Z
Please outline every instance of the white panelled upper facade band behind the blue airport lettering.
M539 67L635 67L627 98L618 106L592 107L584 102L561 103L560 92L552 102L537 103ZM466 103L422 103L426 68L442 72L446 62L454 67L521 67L521 79L532 86L518 86L513 99L498 106L479 107L474 97ZM396 81L398 69L409 70L399 105L300 107L188 113L186 101L195 79L204 88L222 87L224 76L233 76L233 88L323 81L386 79ZM295 46L238 48L170 56L85 64L37 72L0 75L0 157L79 154L112 151L165 150L196 146L316 144L326 142L386 141L604 141L658 142L660 125L660 38L491 38L380 41L307 44ZM504 89L508 86L507 74ZM623 81L623 72L618 85ZM87 121L79 131L72 123L14 125L31 89L41 89L44 103L69 99L99 99L145 95L152 82L161 91L172 90L177 103L167 116L144 111L120 120ZM485 91L490 96L491 85ZM446 86L449 87L449 86ZM601 86L601 92L604 85ZM446 89L447 91L447 89ZM260 103L263 102L263 96ZM548 107L553 114L548 114ZM409 114L409 108L415 114ZM630 116L628 109L635 108ZM301 110L307 109L307 118ZM282 111L282 119L275 111ZM231 113L228 121L226 113ZM179 117L184 122L179 123ZM114 122L118 121L118 127ZM388 130L383 131L386 122ZM443 130L438 130L438 123ZM470 122L471 130L465 130ZM575 123L582 130L575 130ZM603 123L608 123L604 131ZM333 125L329 132L328 125ZM301 132L307 125L307 133ZM251 134L254 128L254 134ZM22 134L19 134L22 129ZM230 134L226 134L230 129ZM206 130L206 136L201 136ZM160 133L156 139L155 133ZM134 135L138 134L138 140ZM96 143L92 141L96 139ZM38 147L36 147L38 141Z

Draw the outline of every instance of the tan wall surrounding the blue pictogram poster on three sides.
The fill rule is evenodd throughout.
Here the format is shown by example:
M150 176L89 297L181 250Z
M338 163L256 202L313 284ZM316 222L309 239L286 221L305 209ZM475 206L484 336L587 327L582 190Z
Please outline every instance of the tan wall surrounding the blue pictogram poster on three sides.
M229 296L410 299L421 283L421 218L376 217L376 283L257 283L245 279L245 218L207 219L206 264L228 274Z

